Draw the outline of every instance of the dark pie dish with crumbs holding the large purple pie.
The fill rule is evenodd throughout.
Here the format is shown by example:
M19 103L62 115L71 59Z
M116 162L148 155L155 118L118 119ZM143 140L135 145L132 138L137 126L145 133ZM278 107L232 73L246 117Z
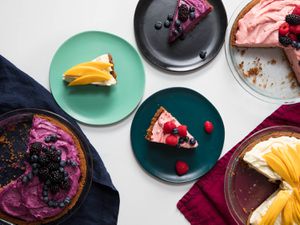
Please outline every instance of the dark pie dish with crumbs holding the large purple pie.
M6 138L11 140L11 143L13 143L13 149L15 151L15 154L18 155L23 154L22 152L26 150L28 133L31 127L32 117L34 114L49 116L51 118L60 121L62 124L68 127L70 131L72 131L73 134L78 138L85 154L86 166L87 166L87 176L86 176L85 186L82 190L81 195L79 196L76 205L71 210L69 210L68 213L66 213L63 217L59 218L54 222L47 223L47 225L58 225L63 221L65 221L66 219L68 219L70 216L72 216L76 212L76 210L79 209L79 207L87 197L87 194L89 193L92 184L92 171L93 171L92 158L87 143L83 142L84 140L83 136L70 122L68 122L66 119L64 119L63 117L55 113L45 111L45 110L40 110L40 109L19 109L19 110L2 114L0 116L0 132L5 132ZM0 146L0 150L4 150L4 147L5 145ZM5 154L5 152L3 151L1 153ZM0 166L5 167L3 161L0 161ZM21 175L22 172L16 169L12 171L12 169L10 168L7 168L5 171L6 174L0 174L1 182L5 182L5 175L8 177L12 176L13 175L12 173L14 173L15 175ZM1 220L0 220L0 224L2 224Z

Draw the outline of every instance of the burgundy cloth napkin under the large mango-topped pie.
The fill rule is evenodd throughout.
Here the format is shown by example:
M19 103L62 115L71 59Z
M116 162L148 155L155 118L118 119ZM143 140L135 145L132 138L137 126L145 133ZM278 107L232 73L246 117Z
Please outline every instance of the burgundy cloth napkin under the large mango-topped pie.
M300 127L300 103L283 105L259 124L241 142L234 146L214 168L200 178L177 203L192 225L235 225L224 196L224 175L236 148L253 133L270 126L290 125Z

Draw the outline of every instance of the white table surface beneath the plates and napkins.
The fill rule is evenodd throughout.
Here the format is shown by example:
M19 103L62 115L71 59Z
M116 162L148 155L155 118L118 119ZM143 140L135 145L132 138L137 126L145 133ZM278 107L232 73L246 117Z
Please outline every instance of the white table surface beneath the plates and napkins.
M133 32L137 2L1 0L0 54L49 89L51 59L61 43L76 33L103 30L119 35L137 47ZM228 19L240 2L224 1ZM183 86L200 92L216 106L226 130L222 155L278 107L254 98L239 86L227 65L224 47L211 63L187 76L169 75L145 60L143 63L146 73L143 100L160 89ZM189 224L176 208L176 203L193 182L183 185L163 183L139 166L129 138L134 113L112 126L80 124L120 192L118 224ZM114 141L115 137L119 141Z

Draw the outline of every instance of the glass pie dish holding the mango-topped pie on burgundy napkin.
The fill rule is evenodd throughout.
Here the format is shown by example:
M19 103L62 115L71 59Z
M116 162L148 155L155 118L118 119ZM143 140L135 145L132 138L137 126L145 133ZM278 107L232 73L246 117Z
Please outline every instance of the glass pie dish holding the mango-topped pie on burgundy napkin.
M224 181L225 199L231 215L239 225L247 224L253 209L279 188L278 183L270 182L267 177L250 168L242 160L242 156L245 154L245 149L253 142L259 139L268 140L273 134L277 136L278 133L283 133L284 136L299 135L300 128L272 126L260 130L241 143L228 163Z

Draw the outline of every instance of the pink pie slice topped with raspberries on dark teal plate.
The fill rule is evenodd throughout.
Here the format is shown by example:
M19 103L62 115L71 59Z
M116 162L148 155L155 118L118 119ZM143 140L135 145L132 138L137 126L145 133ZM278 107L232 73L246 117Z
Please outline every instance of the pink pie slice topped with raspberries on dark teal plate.
M166 144L177 148L197 148L197 140L164 107L160 107L153 116L145 137L150 142Z

